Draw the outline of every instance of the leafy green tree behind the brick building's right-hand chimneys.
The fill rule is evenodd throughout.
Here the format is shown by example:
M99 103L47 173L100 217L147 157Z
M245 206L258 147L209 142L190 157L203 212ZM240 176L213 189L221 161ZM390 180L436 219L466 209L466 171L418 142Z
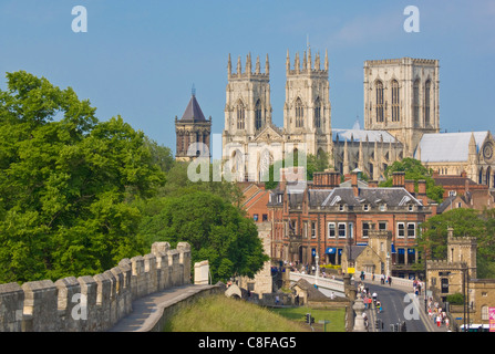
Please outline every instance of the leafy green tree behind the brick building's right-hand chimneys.
M436 202L442 202L444 189L442 186L437 186L433 179L433 170L424 167L420 160L414 158L404 158L401 162L395 162L385 169L385 181L380 184L380 187L392 187L393 184L393 173L404 171L405 179L415 180L415 189L417 191L417 180L424 179L426 181L426 196L435 200Z

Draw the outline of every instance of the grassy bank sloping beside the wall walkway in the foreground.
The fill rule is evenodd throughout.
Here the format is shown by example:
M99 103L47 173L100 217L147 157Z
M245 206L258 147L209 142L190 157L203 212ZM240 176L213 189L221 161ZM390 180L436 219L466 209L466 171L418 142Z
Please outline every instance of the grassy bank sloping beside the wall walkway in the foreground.
M179 310L166 323L165 332L308 332L303 323L306 313L311 312L314 321L330 320L327 332L344 331L343 309L311 310L308 308L268 310L252 303L212 295ZM339 322L341 325L339 325ZM313 325L313 327L316 327ZM322 326L323 325L319 325Z

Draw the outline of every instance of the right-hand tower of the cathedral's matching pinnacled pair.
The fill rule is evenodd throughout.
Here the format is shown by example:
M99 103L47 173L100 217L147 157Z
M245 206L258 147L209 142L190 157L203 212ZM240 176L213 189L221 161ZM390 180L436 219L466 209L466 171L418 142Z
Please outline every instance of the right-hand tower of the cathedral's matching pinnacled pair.
M306 153L313 155L320 150L331 153L332 147L327 52L322 64L323 67L320 67L319 53L313 63L311 49L308 46L302 61L299 53L296 53L291 69L287 51L283 133L287 142L306 143Z

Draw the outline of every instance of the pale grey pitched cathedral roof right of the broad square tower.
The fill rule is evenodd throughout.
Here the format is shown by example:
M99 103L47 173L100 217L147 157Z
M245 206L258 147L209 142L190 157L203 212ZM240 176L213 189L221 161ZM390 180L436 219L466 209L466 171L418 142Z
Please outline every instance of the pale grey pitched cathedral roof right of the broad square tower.
M478 153L488 136L488 131L424 134L414 157L421 159L422 163L466 162L472 135L476 142L476 153Z

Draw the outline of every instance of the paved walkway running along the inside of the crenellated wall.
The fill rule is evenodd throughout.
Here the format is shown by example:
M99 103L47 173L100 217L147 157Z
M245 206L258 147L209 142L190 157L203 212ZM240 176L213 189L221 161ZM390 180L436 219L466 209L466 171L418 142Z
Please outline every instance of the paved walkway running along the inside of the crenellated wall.
M109 332L149 332L162 319L164 310L215 285L186 284L165 289L133 302L133 311Z

